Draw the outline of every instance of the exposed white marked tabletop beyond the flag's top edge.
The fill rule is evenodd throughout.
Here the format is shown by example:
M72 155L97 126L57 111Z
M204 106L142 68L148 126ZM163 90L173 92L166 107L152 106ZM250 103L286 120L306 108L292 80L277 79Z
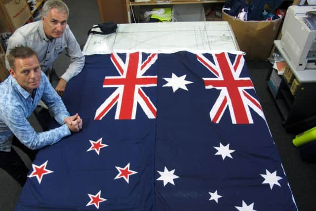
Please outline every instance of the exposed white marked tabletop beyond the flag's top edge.
M84 55L110 52L238 51L226 21L118 24L116 33L90 34Z

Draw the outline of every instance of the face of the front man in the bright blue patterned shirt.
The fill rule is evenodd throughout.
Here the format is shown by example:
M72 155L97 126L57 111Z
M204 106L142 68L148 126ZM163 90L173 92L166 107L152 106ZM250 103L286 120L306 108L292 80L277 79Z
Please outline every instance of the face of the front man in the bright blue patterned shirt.
M10 68L11 76L30 94L40 86L40 63L36 55L29 58L16 58L15 71Z

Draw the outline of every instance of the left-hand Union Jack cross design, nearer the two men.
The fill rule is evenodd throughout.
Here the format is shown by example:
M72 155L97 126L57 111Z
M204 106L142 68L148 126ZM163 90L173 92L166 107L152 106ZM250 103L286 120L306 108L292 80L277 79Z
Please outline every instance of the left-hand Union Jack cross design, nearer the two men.
M157 86L157 76L144 76L156 62L156 53L150 54L142 62L139 52L127 53L125 62L116 53L111 54L111 61L119 76L107 76L103 87L118 87L97 109L94 119L101 120L117 104L116 120L134 120L137 103L148 118L156 118L157 109L142 87Z

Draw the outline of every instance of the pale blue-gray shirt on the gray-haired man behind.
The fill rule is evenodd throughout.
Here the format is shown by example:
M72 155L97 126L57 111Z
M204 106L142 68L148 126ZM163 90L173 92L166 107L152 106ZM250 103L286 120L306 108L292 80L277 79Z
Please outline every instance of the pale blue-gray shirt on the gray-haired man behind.
M6 55L9 55L12 48L22 45L30 47L37 52L40 68L43 72L46 72L58 55L66 49L71 61L68 69L61 76L66 82L77 76L83 68L84 56L68 25L61 38L49 40L44 33L43 22L41 20L26 24L15 30L10 37ZM5 64L6 68L9 69L10 66L6 57Z

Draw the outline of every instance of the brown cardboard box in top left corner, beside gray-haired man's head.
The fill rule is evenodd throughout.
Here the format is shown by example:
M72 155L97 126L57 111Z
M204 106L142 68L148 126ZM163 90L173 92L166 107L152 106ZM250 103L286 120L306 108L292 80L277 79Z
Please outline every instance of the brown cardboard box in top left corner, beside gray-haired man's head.
M6 15L13 31L23 26L32 16L26 0L2 0L1 4L5 11L3 15ZM6 18L1 19L1 22L6 21Z

